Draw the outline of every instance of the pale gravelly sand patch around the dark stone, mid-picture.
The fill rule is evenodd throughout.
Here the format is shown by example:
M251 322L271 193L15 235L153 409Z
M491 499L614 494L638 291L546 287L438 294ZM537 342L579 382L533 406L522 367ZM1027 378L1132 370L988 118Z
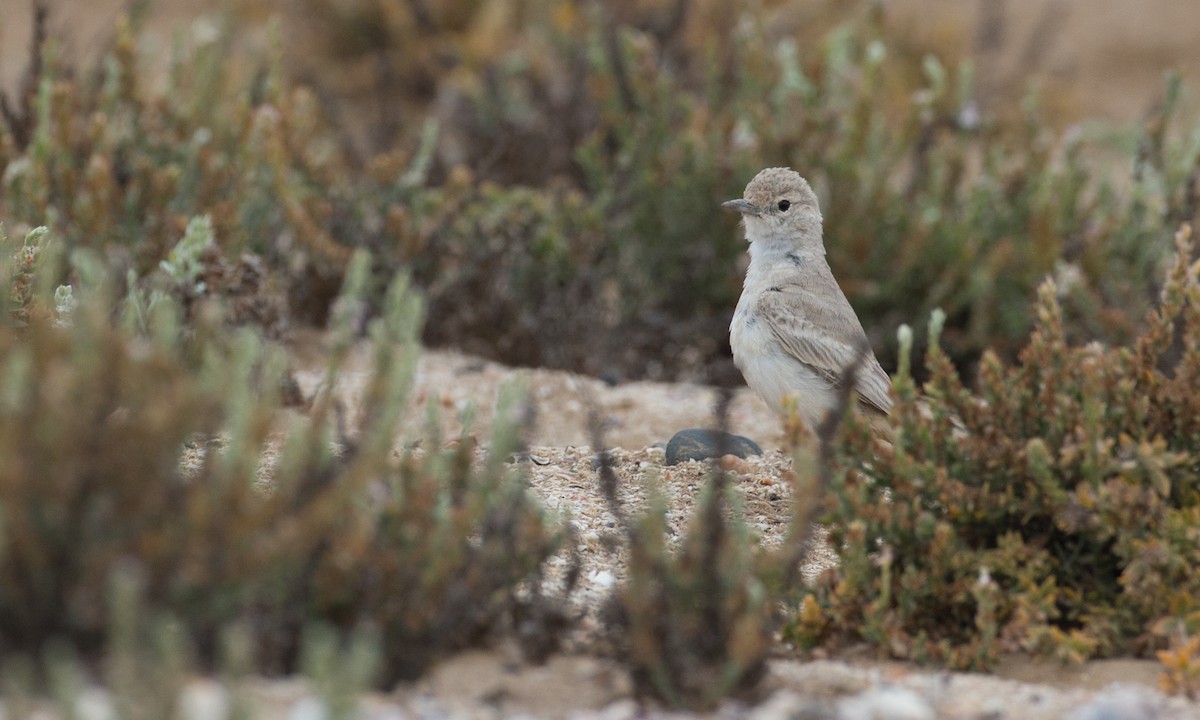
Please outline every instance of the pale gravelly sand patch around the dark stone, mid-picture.
M368 355L362 349L350 356L335 389L350 418L371 374ZM312 362L295 372L301 391L311 397L325 374L316 358L298 356L302 364ZM589 408L596 408L604 419L604 444L611 449L624 505L632 511L643 508L647 491L654 485L667 500L668 524L678 539L686 532L708 466L685 462L665 467L664 449L680 430L713 426L716 391L702 385L649 382L610 386L569 372L510 368L460 353L425 350L419 361L414 402L402 421L398 442L425 434L432 404L443 439L463 433L463 418L470 416L470 434L486 445L496 416L496 398L506 384L528 388L533 404L535 422L529 428L528 461L523 463L530 484L542 502L569 518L577 530L584 571L574 601L583 614L580 644L586 646L598 630L601 600L625 575L624 556L607 550L616 517L596 485ZM791 488L781 480L791 458L781 449L780 424L757 396L742 389L730 410L728 430L750 437L766 450L763 456L739 463L737 486L751 530L763 544L779 545L791 517ZM833 560L828 548L820 548L806 569L808 575L815 575ZM565 557L556 558L552 576L565 570L566 563Z

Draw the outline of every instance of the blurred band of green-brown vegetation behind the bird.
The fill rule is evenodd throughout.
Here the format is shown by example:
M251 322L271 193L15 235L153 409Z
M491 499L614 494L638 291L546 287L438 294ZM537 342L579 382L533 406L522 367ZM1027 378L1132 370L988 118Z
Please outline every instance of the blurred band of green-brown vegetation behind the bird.
M724 384L744 244L719 203L788 164L884 366L896 326L942 307L972 377L985 348L1014 355L1048 275L1072 337L1130 338L1196 214L1181 77L1122 91L1140 122L1075 121L1093 106L1051 61L1058 7L232 1L163 43L155 13L200 5L136 2L95 50L48 5L50 42L7 94L0 215L142 284L209 215L205 262L253 275L239 319L281 336L325 320L367 248L377 292L413 275L427 343Z

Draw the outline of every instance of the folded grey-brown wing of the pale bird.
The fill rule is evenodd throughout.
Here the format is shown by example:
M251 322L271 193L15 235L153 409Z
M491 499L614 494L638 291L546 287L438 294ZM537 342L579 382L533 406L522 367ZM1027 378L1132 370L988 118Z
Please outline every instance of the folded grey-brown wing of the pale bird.
M799 283L772 287L758 298L756 310L787 354L836 386L841 373L854 361L858 347L870 350L870 344L846 296L840 288L834 289L840 302L818 300L812 289ZM822 295L828 298L829 293ZM875 353L868 352L854 383L859 401L888 414L890 388L888 373L880 367Z

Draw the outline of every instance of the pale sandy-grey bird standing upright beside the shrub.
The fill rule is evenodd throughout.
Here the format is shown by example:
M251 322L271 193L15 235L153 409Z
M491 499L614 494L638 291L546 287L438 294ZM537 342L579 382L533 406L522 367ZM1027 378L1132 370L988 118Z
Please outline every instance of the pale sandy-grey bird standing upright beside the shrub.
M836 402L838 379L865 348L854 390L859 408L883 420L892 409L892 380L826 262L821 209L808 181L788 168L767 168L743 198L724 206L742 214L750 244L730 325L733 361L746 383L778 414L792 397L815 430Z

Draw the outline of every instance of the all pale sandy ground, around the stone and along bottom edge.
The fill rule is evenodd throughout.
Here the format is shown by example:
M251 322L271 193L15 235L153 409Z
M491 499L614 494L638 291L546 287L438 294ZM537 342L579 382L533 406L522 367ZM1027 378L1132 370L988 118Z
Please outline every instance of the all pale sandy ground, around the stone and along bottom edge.
M353 358L342 373L337 392L350 409L362 388L365 355ZM305 392L320 383L318 371L300 370ZM391 694L372 695L366 702L379 718L691 718L644 706L631 695L624 672L610 659L589 653L599 630L595 610L624 576L624 558L604 541L613 517L596 486L587 407L595 403L607 416L610 442L622 480L622 499L629 508L644 503L648 484L662 490L670 505L668 524L674 538L686 532L695 498L707 467L689 462L665 468L664 443L684 427L710 421L715 391L701 385L631 383L608 386L571 373L509 368L445 350L421 355L416 397L433 401L443 410L443 431L458 432L456 412L478 408L475 432L487 437L493 400L509 382L532 390L538 425L530 436L526 464L534 491L552 509L569 514L578 528L578 551L584 560L583 580L574 602L583 620L569 653L541 666L528 666L509 648L474 650L434 667L418 683ZM425 410L414 407L406 426L416 430ZM748 434L766 450L737 468L736 487L744 498L745 520L764 545L785 536L791 490L784 481L791 458L779 449L779 424L748 390L737 394L731 414L734 432ZM805 565L811 577L835 562L820 547ZM556 566L557 564L557 566ZM551 575L565 558L552 563ZM728 701L708 715L714 718L949 718L964 720L1111 718L1196 719L1200 704L1166 697L1157 690L1159 665L1151 660L1102 660L1063 666L1025 656L1006 658L994 674L953 673L913 665L881 661L865 649L822 660L802 659L786 648L772 661L766 698L750 706ZM264 683L264 707L298 707L311 702L301 682ZM308 700L305 700L308 698ZM911 710L911 713L910 713ZM397 713L391 715L388 713ZM804 714L809 713L809 714ZM905 714L910 713L910 714ZM266 715L268 718L274 715ZM280 718L287 715L278 715Z

